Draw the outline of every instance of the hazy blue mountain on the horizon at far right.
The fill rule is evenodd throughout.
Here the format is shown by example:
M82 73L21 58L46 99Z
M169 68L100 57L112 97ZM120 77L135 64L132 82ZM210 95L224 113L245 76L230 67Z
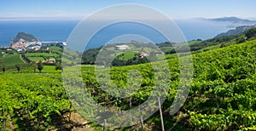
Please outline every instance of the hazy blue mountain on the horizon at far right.
M253 26L256 25L256 20L244 20L237 17L221 17L221 18L197 18L196 20L207 20L212 22L223 22L227 24L229 28L236 28L238 26Z

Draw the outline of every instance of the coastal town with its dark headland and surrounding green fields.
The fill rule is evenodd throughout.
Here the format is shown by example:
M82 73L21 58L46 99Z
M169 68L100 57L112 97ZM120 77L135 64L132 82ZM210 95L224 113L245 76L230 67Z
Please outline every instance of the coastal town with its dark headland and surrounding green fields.
M12 66L32 62L54 65L61 62L61 52L65 46L67 46L67 42L44 42L31 34L19 32L10 41L10 46L0 48L0 55L3 62L16 59L17 64Z

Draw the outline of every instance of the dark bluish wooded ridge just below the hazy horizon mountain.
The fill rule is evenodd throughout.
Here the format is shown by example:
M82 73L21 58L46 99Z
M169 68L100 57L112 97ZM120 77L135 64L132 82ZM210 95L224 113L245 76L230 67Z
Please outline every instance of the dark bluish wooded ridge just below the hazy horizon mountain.
M239 26L239 27L236 27L236 29L232 29L230 31L220 33L216 37L239 35L239 34L243 33L244 31L247 31L247 30L249 30L251 28L255 28L255 27L256 27L256 25L254 25L254 26Z

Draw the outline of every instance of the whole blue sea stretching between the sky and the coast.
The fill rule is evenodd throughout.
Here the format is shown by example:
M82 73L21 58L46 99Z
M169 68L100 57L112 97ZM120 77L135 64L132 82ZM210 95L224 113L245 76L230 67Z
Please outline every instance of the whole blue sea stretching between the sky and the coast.
M9 46L10 41L20 31L32 34L40 41L66 42L75 26L79 25L79 22L80 20L0 20L0 47ZM187 41L194 39L205 40L230 30L228 25L218 22L203 20L173 20L173 22L183 33ZM148 26L141 26L131 22L116 24L113 27L108 27L108 30L97 33L101 37L97 38L96 36L92 38L88 48L97 48L103 42L108 42L109 36L117 37L125 33L137 33L137 35L140 35L140 33L147 32L148 36L146 35L145 37L153 39L154 43L166 41L166 38L160 36L159 32L151 30Z

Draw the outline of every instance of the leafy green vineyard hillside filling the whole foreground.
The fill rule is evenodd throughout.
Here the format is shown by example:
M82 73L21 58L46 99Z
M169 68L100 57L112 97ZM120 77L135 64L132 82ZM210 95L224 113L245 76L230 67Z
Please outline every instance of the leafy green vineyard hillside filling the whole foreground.
M181 56L181 54L166 54L169 65L166 71L171 74L168 78L170 87L165 92L166 100L161 106L166 130L256 130L255 37L256 30L249 29L239 36L215 37L205 41L191 42L189 45L193 50L193 80L188 98L174 115L170 115L169 111L180 83L178 60L183 60L187 56L177 59L177 55ZM115 53L114 45L109 45L108 48L111 54ZM137 43L132 48L137 48L138 52L148 49ZM92 48L84 52L83 64L94 64L100 49ZM60 53L61 50L51 48L51 52L51 54L28 53L26 57L60 58L57 52ZM76 113L79 109L74 108L75 105L72 105L68 98L83 102L85 108L83 111L92 111L94 108L86 105L87 101L84 101L86 99L81 94L86 91L90 93L93 100L105 108L114 111L129 110L148 99L154 89L154 73L161 73L159 71L165 69L160 60L154 62L156 69L153 69L152 63L141 62L143 58L139 58L137 54L128 51L122 55L122 52L119 51L113 55L115 60L127 60L131 63L126 66L110 66L111 81L107 79L106 74L102 73L107 68L99 69L97 73L100 73L101 82L104 82L102 85L96 78L94 65L81 65L81 68L76 65L82 70L82 74L79 75L83 78L84 88L79 88L76 85L77 81L72 79L75 77L73 75L78 75L77 71L68 67L64 68L64 71L70 73L68 77L62 77L61 70L56 71L54 65L44 65L41 73L38 70L34 72L32 66L21 67L19 73L15 69L1 72L0 130L71 130L74 127L83 130L89 130L88 127L102 130L102 126L94 122L87 120L84 125L70 119L70 113ZM67 50L67 54L63 56L67 60L72 60L77 55L79 53ZM131 58L127 59L129 57ZM20 54L5 54L1 60L9 65L23 62L20 60ZM147 60L146 57L144 60ZM127 76L134 69L141 73L141 83L138 83L137 74L130 73L131 77ZM186 75L189 76L189 74ZM127 83L128 78L132 83ZM71 82L75 85L68 87L71 88L68 94L72 97L65 92L63 80L72 80ZM100 85L128 90L136 87L139 90L129 97L118 98L103 91ZM112 91L119 94L117 90ZM88 119L95 116L84 117ZM159 111L144 120L144 125L145 130L161 130ZM108 129L143 130L141 123L132 127L108 127Z

